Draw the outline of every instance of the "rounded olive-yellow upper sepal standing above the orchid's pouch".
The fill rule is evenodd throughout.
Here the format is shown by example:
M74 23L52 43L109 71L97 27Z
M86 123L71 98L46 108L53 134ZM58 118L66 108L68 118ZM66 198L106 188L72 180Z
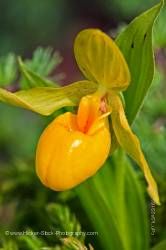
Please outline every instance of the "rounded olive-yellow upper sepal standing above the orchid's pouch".
M87 79L111 89L128 87L130 72L126 61L114 41L102 31L81 31L75 40L74 54Z

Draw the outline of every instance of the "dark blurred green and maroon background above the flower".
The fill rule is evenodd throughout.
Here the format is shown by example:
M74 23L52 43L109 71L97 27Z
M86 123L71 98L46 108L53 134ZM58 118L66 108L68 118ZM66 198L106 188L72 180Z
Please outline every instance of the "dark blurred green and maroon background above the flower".
M76 79L74 37L83 28L108 32L153 6L157 0L1 0L0 55L31 56L37 46L58 49L65 58L65 82Z

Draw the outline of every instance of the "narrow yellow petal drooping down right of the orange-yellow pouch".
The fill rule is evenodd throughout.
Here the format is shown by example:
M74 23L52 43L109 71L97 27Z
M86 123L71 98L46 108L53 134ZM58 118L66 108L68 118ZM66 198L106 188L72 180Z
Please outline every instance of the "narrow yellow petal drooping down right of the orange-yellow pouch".
M112 107L112 126L118 143L140 166L148 183L147 190L150 197L156 204L160 205L157 184L141 150L140 142L128 124L120 97L112 92L109 102Z

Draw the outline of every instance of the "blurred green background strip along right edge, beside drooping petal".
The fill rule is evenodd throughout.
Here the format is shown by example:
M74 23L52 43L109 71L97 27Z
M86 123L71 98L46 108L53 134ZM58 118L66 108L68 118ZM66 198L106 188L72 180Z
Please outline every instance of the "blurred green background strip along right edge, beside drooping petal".
M163 164L166 155L165 94L165 76L156 71L148 98L134 123L134 130L139 134L143 150L148 156L160 190L162 206L156 207L156 235L152 237L153 245L166 237L166 169Z

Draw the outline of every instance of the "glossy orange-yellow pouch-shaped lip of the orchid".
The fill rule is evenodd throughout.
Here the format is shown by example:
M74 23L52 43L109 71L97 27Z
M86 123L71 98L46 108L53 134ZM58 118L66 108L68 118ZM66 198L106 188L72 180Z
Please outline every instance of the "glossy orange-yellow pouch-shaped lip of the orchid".
M67 112L58 116L41 135L36 170L47 187L56 191L75 187L94 175L108 157L108 120L99 104L94 106L96 102L96 97L83 97L77 115Z

